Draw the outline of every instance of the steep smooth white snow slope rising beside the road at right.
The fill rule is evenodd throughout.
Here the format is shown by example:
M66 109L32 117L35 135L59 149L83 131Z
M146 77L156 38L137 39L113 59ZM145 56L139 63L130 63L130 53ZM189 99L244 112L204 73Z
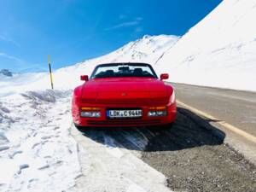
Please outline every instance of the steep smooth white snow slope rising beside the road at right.
M158 61L171 80L256 90L256 0L224 0Z

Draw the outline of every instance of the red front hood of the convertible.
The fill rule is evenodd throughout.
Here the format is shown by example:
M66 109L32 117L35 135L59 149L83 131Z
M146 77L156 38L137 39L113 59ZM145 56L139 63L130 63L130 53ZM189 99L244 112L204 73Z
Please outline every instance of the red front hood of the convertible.
M96 103L167 102L166 85L159 79L94 79L83 86L82 99Z

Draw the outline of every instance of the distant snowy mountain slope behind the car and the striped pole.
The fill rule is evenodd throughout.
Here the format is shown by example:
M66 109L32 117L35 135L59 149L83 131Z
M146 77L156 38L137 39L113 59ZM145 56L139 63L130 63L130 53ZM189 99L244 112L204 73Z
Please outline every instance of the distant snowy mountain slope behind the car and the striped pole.
M96 65L108 62L148 62L154 65L166 50L177 43L179 37L172 35L148 36L125 44L108 55L79 62L70 67L63 67L55 71L54 84L56 89L73 89L81 84L79 76L92 72ZM25 90L49 89L48 73L23 73L14 77L0 77L0 96L8 96Z

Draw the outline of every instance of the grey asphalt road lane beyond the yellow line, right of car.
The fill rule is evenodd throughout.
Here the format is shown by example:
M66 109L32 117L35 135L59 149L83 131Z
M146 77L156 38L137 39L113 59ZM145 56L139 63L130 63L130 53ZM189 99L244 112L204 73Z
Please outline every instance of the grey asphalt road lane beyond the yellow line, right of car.
M256 93L173 84L177 99L256 136Z

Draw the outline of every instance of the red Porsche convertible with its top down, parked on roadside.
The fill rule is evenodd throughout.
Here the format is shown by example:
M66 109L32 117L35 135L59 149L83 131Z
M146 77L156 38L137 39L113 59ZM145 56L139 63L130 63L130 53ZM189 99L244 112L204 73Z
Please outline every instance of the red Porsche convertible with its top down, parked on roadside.
M73 91L72 114L76 126L169 125L176 118L168 74L158 79L146 63L98 65L85 83Z

